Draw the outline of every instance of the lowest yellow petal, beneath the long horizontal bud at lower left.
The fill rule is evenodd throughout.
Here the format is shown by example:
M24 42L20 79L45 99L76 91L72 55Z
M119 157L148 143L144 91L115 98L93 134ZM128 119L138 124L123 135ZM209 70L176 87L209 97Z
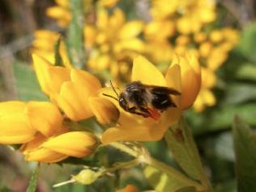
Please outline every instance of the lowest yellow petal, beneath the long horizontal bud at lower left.
M66 159L68 156L54 152L48 148L38 148L28 152L25 156L26 161L38 161L43 163L55 163Z

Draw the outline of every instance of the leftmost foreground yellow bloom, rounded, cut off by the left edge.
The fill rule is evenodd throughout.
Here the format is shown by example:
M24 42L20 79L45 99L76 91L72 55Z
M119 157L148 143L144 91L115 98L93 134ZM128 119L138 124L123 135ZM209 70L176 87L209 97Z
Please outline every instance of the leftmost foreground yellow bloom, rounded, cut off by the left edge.
M1 144L23 144L37 132L53 136L61 127L62 115L50 102L1 102L0 124Z

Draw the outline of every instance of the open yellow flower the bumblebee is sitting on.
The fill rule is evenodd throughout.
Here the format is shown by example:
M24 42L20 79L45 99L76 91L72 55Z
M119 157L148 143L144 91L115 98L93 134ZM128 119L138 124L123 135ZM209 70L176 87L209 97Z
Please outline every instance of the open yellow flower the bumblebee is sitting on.
M164 132L181 117L181 111L193 104L193 99L200 89L198 69L200 69L199 65L193 56L177 56L164 77L156 66L143 56L135 57L131 81L141 81L145 85L170 87L181 92L182 98L172 95L177 107L169 107L158 120L132 115L124 111L117 101L113 101L121 111L120 118L117 127L111 127L103 133L102 142L108 144L115 141L160 140ZM113 90L105 89L103 92L116 97Z

